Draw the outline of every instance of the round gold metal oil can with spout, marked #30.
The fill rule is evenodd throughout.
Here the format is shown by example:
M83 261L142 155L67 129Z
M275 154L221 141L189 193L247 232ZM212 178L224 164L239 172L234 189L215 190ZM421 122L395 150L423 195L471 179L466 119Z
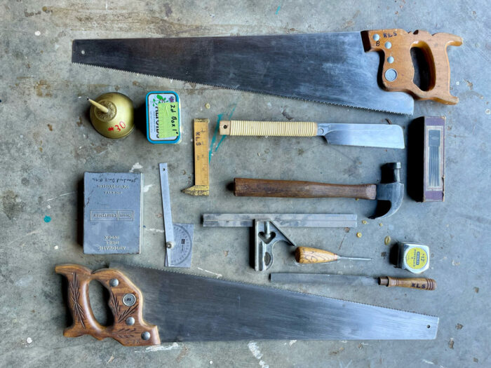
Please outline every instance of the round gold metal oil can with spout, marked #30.
M121 93L111 92L95 100L87 99L90 107L90 121L95 130L108 138L122 138L135 128L133 101Z

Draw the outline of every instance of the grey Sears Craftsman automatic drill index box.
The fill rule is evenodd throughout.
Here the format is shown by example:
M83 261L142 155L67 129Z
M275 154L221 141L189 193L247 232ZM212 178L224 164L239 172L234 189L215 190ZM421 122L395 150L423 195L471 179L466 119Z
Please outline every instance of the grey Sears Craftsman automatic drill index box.
M137 172L84 173L83 253L140 253L142 186Z

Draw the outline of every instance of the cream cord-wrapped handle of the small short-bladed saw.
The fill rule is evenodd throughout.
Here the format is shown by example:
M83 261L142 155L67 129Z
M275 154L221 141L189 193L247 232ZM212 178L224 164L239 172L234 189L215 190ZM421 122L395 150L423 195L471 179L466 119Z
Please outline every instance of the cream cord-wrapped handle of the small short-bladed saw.
M220 121L221 135L254 135L276 137L314 137L317 123L313 121Z

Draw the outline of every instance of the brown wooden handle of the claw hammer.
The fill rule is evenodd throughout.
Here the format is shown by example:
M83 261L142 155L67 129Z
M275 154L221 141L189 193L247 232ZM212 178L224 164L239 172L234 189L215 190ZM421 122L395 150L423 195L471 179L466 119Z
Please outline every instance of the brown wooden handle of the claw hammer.
M376 190L375 184L344 185L240 177L234 179L235 196L375 199Z

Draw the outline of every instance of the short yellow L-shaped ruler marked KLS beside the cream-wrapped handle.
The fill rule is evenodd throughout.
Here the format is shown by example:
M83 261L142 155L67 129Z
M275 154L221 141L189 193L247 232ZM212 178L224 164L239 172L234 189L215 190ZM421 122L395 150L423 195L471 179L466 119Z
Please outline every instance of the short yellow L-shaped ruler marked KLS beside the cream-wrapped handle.
M210 195L208 119L194 119L194 186L182 191L191 196Z

